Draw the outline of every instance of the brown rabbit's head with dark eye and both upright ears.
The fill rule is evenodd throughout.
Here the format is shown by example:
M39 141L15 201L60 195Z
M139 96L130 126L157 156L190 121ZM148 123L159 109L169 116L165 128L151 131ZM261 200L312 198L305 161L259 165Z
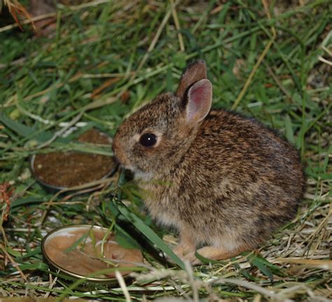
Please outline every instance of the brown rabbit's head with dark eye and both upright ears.
M120 125L113 139L118 161L146 180L167 173L188 150L211 103L205 62L193 62L176 94L160 94Z

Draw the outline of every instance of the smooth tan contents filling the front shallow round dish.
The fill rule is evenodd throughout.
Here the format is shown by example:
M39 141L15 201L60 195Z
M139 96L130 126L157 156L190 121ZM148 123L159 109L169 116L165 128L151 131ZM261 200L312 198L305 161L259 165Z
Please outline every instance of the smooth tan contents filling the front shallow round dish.
M65 271L86 276L105 268L133 267L143 262L140 250L120 247L113 234L104 239L105 231L102 229L73 227L59 232L46 240L44 250L46 256ZM77 245L80 240L81 243ZM132 272L121 269L118 271L121 275ZM115 277L115 273L111 271L95 277L110 278Z

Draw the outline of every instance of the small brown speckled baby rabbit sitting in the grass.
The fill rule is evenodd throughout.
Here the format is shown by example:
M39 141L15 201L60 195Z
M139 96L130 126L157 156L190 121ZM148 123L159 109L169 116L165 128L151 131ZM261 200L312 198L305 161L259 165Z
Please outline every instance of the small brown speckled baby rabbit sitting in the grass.
M211 110L205 62L120 125L113 151L146 189L158 222L179 230L174 252L198 264L257 247L291 220L303 196L298 152L252 118Z

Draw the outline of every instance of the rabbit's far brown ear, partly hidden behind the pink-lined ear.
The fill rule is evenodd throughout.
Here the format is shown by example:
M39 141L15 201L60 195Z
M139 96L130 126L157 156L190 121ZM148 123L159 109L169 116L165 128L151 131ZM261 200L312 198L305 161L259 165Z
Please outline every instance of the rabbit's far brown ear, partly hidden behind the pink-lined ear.
M203 78L207 78L207 66L205 65L205 62L203 60L198 60L189 64L181 76L176 95L183 99L188 88Z

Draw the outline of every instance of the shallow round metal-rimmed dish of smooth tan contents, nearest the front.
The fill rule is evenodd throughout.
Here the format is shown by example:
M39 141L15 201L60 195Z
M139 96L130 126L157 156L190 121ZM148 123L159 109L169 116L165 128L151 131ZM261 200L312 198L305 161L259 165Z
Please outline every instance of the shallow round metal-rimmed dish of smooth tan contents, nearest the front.
M120 247L108 229L88 224L50 231L42 240L41 250L50 265L62 273L100 284L117 282L115 268L126 276L143 263L140 250Z

